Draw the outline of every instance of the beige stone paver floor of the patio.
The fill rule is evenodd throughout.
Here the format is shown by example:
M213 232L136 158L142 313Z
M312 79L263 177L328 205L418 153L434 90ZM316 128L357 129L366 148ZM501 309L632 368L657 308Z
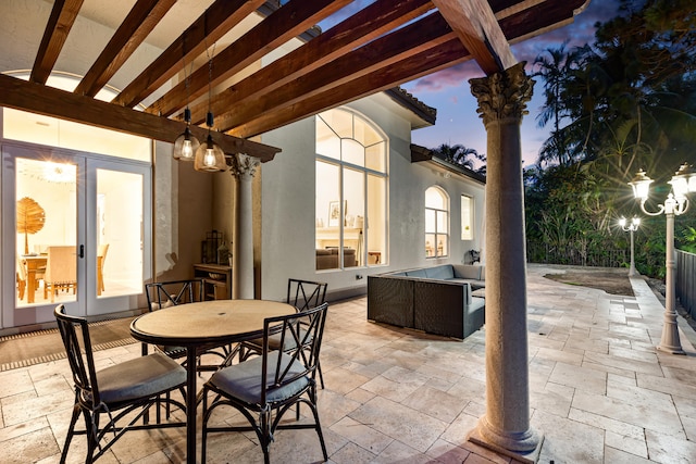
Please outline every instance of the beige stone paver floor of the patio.
M545 437L538 462L696 463L691 327L680 321L686 355L660 352L663 308L643 279L632 279L636 297L620 297L545 279L547 272L559 271L527 269L531 424ZM465 438L485 413L484 331L455 341L372 324L365 313L365 298L330 308L319 393L330 462L514 463ZM134 343L96 355L104 366L139 353ZM73 402L67 363L1 373L0 386L0 462L59 462ZM69 462L83 462L85 448L76 437ZM183 429L130 432L99 462L179 463L184 454ZM321 457L311 430L279 431L271 446L272 463ZM208 462L262 461L252 435L209 440Z

